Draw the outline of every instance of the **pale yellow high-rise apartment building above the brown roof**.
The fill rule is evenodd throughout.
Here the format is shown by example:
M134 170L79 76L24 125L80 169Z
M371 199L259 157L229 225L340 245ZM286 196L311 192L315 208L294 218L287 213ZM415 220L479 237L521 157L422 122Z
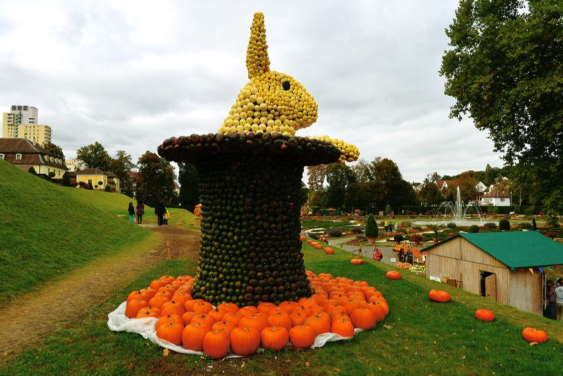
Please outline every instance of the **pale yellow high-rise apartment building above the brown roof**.
M51 142L51 127L37 124L37 109L14 105L2 116L2 137L25 138L41 146Z

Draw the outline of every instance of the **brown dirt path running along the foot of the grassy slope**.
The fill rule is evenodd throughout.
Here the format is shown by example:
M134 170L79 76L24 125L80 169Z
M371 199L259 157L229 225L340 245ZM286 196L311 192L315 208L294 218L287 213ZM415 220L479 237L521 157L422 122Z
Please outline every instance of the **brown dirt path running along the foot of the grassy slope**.
M98 258L56 283L16 298L1 308L0 350L41 335L74 318L111 296L158 261L197 257L199 233L171 225L143 227L158 234L155 241L151 241L144 249ZM60 303L61 296L65 297L65 304ZM19 351L19 345L2 351L0 362Z

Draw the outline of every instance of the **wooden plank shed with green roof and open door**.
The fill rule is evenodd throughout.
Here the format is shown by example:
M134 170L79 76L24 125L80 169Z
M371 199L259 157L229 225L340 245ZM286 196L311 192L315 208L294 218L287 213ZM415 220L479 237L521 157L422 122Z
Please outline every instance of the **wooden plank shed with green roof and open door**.
M540 268L563 264L563 245L536 231L457 234L423 251L428 278L455 278L461 289L538 315Z

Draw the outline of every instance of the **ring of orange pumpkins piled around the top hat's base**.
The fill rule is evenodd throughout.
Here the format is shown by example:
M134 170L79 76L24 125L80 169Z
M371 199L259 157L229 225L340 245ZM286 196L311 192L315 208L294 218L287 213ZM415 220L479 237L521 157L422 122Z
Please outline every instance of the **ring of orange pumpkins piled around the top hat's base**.
M158 338L217 359L229 351L251 355L260 347L281 351L288 343L308 349L323 333L351 338L355 328L372 329L389 313L383 294L364 281L312 272L307 277L314 291L310 298L239 308L193 299L191 276L162 276L129 294L125 315L158 318Z

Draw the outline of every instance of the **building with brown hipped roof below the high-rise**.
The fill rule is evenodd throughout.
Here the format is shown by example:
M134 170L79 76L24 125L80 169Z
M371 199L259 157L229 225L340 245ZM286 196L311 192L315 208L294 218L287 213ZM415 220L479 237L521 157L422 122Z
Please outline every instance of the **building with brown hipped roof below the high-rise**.
M30 140L21 138L0 138L0 159L22 170L33 168L37 175L46 177L54 173L53 179L63 179L67 171L62 159L54 157Z

